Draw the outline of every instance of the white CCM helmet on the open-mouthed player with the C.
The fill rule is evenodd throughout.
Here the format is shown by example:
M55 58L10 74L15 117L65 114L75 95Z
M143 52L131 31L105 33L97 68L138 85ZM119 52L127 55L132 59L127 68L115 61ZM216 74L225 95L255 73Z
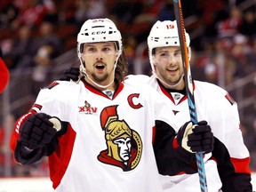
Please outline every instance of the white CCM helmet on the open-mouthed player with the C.
M118 55L122 53L123 44L120 31L108 18L86 20L77 35L77 54L81 57L85 43L117 42Z

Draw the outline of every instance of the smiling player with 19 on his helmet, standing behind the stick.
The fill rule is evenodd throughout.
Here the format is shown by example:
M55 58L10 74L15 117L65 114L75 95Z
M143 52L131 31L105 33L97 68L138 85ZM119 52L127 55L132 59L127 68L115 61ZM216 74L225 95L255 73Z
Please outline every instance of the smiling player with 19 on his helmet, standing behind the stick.
M188 33L186 42L190 57ZM177 145L172 133L179 132L182 122L190 119L176 20L156 21L148 36L148 50L153 76L128 76L125 81L150 84L169 108L166 114L172 111L174 115L174 130L164 126L156 129L154 150L162 186L166 192L200 191L196 157L183 151L179 153L182 161L176 162L170 154ZM77 68L70 68L62 80L76 80L78 74ZM208 191L252 192L250 156L239 129L235 100L217 85L196 80L193 84L197 118L211 124L215 137L212 153L204 156Z

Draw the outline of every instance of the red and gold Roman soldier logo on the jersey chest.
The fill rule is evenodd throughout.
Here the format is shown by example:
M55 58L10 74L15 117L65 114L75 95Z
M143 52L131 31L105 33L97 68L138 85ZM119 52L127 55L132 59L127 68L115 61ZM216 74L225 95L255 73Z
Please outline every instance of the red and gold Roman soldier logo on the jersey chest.
M139 163L142 142L138 132L132 130L124 120L119 120L116 106L104 108L100 114L100 124L105 132L107 149L100 152L98 160L123 169L133 170Z

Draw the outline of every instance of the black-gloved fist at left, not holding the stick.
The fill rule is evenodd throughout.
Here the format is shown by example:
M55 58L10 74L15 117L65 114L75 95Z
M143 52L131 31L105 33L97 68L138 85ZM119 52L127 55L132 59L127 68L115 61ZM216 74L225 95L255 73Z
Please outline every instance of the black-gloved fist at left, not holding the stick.
M57 130L48 116L44 113L37 113L29 116L20 127L20 141L22 146L29 149L42 148L51 142Z

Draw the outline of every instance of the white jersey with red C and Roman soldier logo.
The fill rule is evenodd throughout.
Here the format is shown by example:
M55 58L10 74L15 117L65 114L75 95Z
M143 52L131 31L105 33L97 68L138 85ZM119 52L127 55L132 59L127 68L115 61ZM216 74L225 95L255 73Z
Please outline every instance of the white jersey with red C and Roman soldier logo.
M30 111L68 123L49 156L56 191L162 191L152 128L162 114L156 106L163 103L150 90L119 84L111 100L85 82L56 81L39 92ZM12 137L19 140L19 130Z

